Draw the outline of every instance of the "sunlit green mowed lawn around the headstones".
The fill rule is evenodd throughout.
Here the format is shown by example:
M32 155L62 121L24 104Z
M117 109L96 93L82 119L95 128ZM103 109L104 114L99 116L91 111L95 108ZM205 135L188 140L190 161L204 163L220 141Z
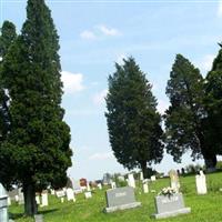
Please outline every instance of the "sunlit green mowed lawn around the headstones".
M49 196L49 206L40 208L44 222L149 222L155 221L151 218L154 210L154 195L170 182L169 178L159 179L150 184L150 192L142 193L142 184L138 183L135 189L137 200L142 206L110 214L103 213L105 208L105 190L94 190L92 199L85 200L83 194L77 195L77 202L60 203L53 195ZM185 205L191 208L190 214L179 215L170 219L158 220L161 222L222 222L222 173L206 175L208 194L196 195L195 178L180 178ZM13 219L18 222L32 222L34 220L24 218L22 205L12 204L9 209Z

